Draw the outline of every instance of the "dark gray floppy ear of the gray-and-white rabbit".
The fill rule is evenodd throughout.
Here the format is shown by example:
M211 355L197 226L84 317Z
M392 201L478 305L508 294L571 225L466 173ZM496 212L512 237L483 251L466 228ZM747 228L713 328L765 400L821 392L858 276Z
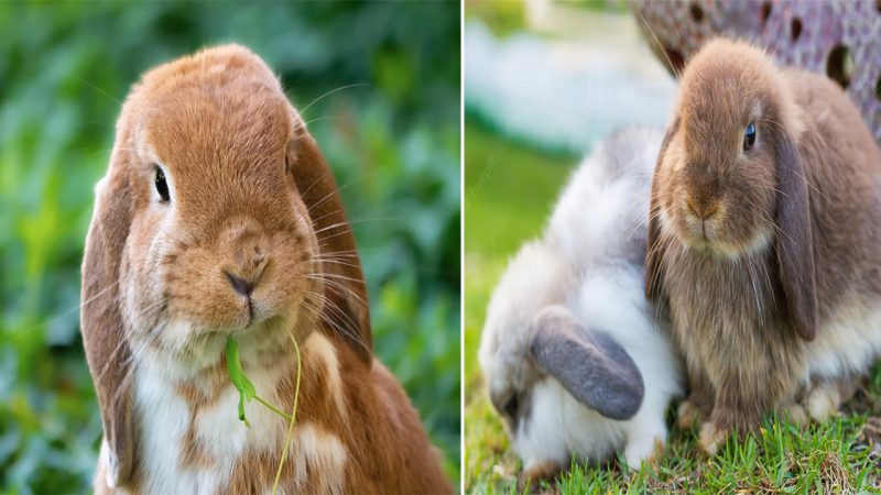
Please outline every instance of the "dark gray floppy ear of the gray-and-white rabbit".
M614 339L583 327L561 306L543 309L534 322L532 358L573 397L610 419L637 414L645 392L642 374Z

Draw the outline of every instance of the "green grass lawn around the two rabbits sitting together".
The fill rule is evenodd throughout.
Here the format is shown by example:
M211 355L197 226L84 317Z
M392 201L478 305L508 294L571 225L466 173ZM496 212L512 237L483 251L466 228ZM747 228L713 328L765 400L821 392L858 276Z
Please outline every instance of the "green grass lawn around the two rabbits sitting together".
M507 260L537 235L578 157L512 143L466 118L465 492L516 492L521 465L508 450L480 376L486 306ZM574 465L559 493L881 493L881 367L839 417L797 428L768 419L720 453L699 452L696 431L673 429L654 465L633 473ZM672 416L671 416L672 420Z

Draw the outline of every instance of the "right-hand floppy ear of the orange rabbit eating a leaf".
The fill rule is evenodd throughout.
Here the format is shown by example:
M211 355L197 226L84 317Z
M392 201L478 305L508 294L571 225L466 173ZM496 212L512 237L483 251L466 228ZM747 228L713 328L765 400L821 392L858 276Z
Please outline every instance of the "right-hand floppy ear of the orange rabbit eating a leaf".
M355 237L342 211L334 173L302 123L289 145L289 160L318 237L327 298L323 319L370 365L373 362L370 306Z

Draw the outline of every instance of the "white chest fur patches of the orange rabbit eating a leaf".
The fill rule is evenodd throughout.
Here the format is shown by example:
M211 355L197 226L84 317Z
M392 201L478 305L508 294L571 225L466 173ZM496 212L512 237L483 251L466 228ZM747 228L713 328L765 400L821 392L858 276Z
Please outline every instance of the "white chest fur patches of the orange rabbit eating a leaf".
M303 345L304 365L325 367L329 377L327 392L341 406L338 363L333 345L320 334L311 336ZM290 404L274 395L275 372L248 373L257 394L289 409ZM280 451L287 421L257 402L246 404L246 427L238 418L239 394L227 385L210 407L194 411L177 391L167 369L150 358L140 362L134 377L134 415L139 436L139 464L144 475L141 491L149 494L222 493L233 466L254 452ZM304 380L309 373L304 373ZM303 407L301 405L301 407ZM341 407L339 408L341 411ZM188 458L187 452L195 455ZM311 486L307 473L323 473L323 492L340 493L348 452L340 439L319 426L297 421L289 451L294 466L294 486ZM275 466L270 466L274 472ZM314 485L314 483L313 483Z

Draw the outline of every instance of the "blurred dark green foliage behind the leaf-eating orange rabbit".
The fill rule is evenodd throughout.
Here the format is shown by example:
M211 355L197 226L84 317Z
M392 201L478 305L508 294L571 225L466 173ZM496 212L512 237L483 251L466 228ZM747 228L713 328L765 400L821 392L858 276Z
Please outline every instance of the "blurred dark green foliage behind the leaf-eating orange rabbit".
M78 333L93 185L139 75L238 42L334 167L376 351L459 477L459 4L0 4L0 491L84 493L101 435ZM360 86L363 85L363 86Z

